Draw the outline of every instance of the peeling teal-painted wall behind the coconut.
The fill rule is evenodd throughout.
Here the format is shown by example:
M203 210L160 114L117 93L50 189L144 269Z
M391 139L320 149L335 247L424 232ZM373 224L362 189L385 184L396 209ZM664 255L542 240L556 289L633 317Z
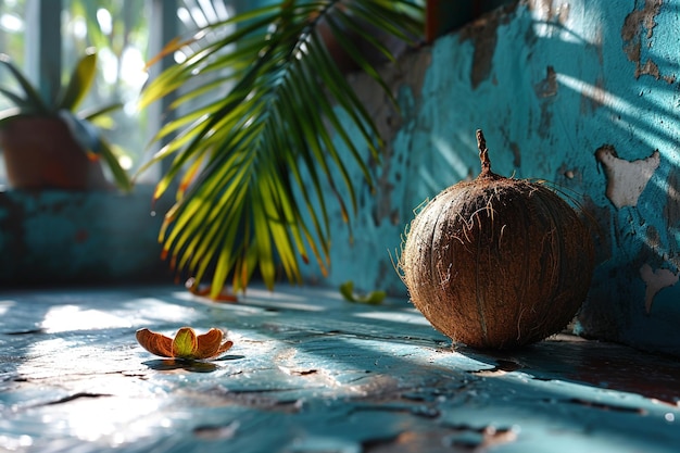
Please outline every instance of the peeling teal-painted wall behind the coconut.
M498 173L562 186L600 226L579 331L679 353L679 0L496 10L386 70L401 119L356 76L390 146L353 240L333 213L331 273L308 266L307 281L405 294L389 251L425 199L477 175L481 128Z

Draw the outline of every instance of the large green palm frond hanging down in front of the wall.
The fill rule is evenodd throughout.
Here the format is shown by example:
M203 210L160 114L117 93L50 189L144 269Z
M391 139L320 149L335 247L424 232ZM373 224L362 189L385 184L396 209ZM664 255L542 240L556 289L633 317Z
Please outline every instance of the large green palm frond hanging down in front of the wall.
M191 50L151 80L141 104L176 95L169 106L176 117L155 137L165 144L148 163L172 158L154 194L176 183L176 203L160 232L172 266L194 287L209 279L211 297L229 278L235 292L244 290L255 270L268 288L277 269L300 281L300 261L311 256L325 273L327 193L348 219L356 207L348 165L358 165L373 188L367 161L379 161L381 147L338 56L391 97L364 49L390 60L377 36L413 43L421 33L418 1L286 0L167 45L156 60ZM209 99L196 105L202 97Z

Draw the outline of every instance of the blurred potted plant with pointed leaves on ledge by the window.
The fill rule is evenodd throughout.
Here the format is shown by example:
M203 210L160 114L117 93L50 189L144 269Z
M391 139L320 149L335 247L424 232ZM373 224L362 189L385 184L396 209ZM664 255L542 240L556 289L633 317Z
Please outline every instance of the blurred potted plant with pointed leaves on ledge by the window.
M0 148L8 179L17 189L106 189L110 183L101 160L122 190L131 181L97 126L119 103L78 111L97 70L97 53L88 50L54 99L43 99L37 87L0 54L0 67L9 71L17 88L0 87L12 106L0 111Z

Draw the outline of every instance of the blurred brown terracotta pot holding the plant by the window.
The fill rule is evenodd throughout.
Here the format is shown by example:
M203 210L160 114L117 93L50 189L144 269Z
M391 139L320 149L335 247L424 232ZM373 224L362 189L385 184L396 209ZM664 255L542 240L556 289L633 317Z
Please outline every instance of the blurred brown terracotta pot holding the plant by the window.
M59 118L24 117L0 128L9 184L15 189L111 189Z

